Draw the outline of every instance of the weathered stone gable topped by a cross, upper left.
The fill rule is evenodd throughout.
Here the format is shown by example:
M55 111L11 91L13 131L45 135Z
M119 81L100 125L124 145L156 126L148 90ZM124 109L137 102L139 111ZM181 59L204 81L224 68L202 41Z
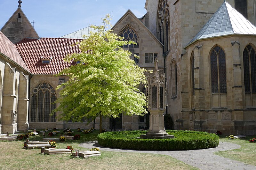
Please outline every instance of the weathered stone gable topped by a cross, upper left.
M20 7L17 8L11 18L5 23L1 32L14 44L28 37L40 38Z

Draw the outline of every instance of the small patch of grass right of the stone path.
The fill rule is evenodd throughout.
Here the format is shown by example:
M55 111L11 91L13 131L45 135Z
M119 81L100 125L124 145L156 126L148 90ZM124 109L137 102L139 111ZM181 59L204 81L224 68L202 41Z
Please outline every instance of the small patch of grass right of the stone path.
M229 140L228 138L221 136L220 142L239 144L241 148L230 151L214 152L214 154L256 166L256 143L249 142L249 140L253 137L255 136L247 136L245 138Z

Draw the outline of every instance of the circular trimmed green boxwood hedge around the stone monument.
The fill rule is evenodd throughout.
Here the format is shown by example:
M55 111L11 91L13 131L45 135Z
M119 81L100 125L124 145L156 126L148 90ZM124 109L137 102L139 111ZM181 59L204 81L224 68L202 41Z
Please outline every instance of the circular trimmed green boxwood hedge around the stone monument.
M214 148L219 144L219 136L207 132L189 130L166 130L173 139L139 139L147 131L105 132L98 135L101 146L119 149L175 151Z

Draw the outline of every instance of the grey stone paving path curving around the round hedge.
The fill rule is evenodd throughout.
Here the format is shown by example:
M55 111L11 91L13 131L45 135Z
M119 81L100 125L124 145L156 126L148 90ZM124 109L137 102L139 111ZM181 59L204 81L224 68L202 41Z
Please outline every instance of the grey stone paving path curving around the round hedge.
M133 153L153 153L169 155L173 158L183 161L188 165L195 166L202 170L214 169L232 169L232 170L256 170L256 166L244 164L242 162L223 158L213 154L217 151L226 151L240 148L240 145L231 144L227 142L220 142L219 146L210 149L191 150L191 151L138 151L138 150L125 150L102 147L97 141L79 144L84 148L97 147L100 151L113 151L113 152L133 152Z

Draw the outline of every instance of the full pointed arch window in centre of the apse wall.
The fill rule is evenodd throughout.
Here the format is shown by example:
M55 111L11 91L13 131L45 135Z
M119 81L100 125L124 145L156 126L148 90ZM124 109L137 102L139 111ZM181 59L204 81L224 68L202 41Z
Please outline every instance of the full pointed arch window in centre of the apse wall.
M226 56L219 46L211 51L211 80L212 93L227 92Z

